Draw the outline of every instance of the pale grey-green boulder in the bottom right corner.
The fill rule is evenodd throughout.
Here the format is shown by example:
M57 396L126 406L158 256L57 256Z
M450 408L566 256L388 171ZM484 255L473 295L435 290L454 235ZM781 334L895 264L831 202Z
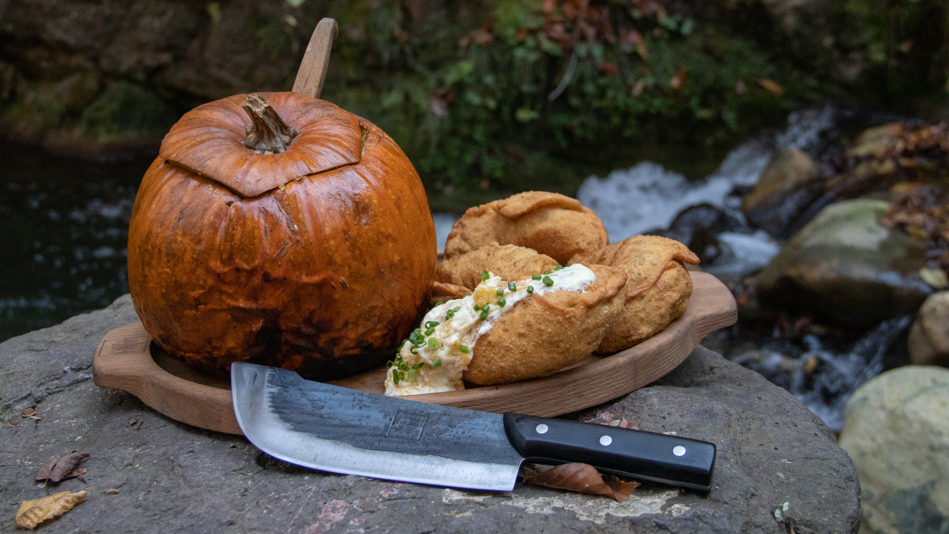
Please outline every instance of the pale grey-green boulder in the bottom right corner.
M847 403L840 436L872 534L949 532L949 370L884 372Z

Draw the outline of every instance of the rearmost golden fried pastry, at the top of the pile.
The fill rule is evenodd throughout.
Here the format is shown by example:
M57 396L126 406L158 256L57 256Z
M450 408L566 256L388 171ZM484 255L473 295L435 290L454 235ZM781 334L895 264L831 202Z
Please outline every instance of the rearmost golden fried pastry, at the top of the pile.
M445 241L451 259L491 242L531 248L567 264L609 243L606 228L580 200L557 193L528 191L469 208Z

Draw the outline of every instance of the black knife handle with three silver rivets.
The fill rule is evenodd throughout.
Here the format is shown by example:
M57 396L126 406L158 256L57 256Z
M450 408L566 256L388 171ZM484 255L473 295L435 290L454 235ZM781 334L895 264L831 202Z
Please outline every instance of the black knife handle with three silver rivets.
M511 445L528 460L579 462L607 472L707 490L712 486L715 445L644 430L504 414Z

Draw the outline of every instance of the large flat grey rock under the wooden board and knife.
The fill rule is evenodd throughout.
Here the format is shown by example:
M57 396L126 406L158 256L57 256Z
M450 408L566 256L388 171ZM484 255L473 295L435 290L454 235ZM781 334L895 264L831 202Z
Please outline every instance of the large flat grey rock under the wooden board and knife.
M43 532L773 532L855 533L860 486L816 416L755 372L699 347L659 382L573 414L716 444L707 495L641 486L620 504L518 484L511 492L382 482L289 466L243 437L195 429L103 390L89 367L99 339L136 320L123 296L105 310L0 344L0 530L47 489L36 471L88 451L88 499ZM18 410L39 404L42 421ZM201 407L195 407L200 410ZM129 418L135 417L135 427ZM106 495L110 487L118 495ZM788 503L781 521L777 506ZM791 524L793 530L791 530Z

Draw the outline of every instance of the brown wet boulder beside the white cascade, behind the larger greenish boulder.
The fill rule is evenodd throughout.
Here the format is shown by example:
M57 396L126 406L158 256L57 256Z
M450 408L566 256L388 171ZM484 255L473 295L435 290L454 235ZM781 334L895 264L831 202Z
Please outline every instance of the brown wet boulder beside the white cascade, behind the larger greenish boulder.
M774 150L761 178L741 200L741 211L773 238L781 238L821 189L814 183L814 162L797 148L785 146Z

